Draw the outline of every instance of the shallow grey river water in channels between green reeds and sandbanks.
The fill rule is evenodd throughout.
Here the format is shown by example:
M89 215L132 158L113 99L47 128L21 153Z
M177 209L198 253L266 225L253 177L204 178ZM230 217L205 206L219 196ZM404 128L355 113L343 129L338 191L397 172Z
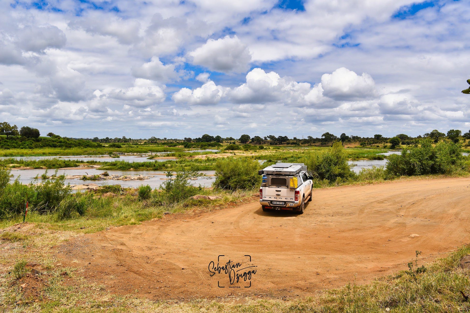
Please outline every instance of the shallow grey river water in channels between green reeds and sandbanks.
M217 152L218 150L198 150L198 151L191 151L191 152ZM388 151L386 153L381 153L384 156L389 156L391 154L400 154L401 151ZM462 153L463 155L468 156L468 153ZM122 160L127 162L146 162L152 161L147 159L146 157L141 156L121 156L120 158L111 158L111 157L90 157L90 156L71 156L71 157L60 157L64 159L71 159L71 160L94 160L94 161L115 161L115 160ZM19 157L18 157L19 158ZM40 159L50 159L50 158L57 158L57 157L21 157L23 159L32 159L32 160L40 160ZM162 161L162 160L154 160L154 161ZM165 161L165 160L163 160ZM261 160L260 160L261 161ZM261 163L261 162L260 162ZM385 166L387 164L387 160L358 160L358 161L348 161L349 164L354 164L352 167L352 171L359 173L360 170L364 168L372 168L372 166ZM43 169L36 169L36 170L12 170L11 173L13 174L12 180L19 177L19 181L23 184L29 184L30 182L34 181L34 177L41 176L44 174L46 170ZM95 169L95 168L83 168L83 169L67 169L67 170L58 170L58 175L98 175L101 174L103 170ZM52 175L55 173L55 170L47 170L47 175ZM121 185L123 187L138 187L140 185L149 185L152 188L158 188L162 185L166 179L166 174L163 171L108 171L110 175L144 175L144 176L153 176L149 179L144 180L81 180L81 179L66 179L65 184L71 185L81 185L86 183L92 183L99 186L102 185ZM215 181L215 177L213 176L215 171L201 171L201 173L207 175L202 178L198 178L195 180L191 180L191 184L194 186L203 186L203 187L210 187L212 183ZM38 180L40 182L40 179Z

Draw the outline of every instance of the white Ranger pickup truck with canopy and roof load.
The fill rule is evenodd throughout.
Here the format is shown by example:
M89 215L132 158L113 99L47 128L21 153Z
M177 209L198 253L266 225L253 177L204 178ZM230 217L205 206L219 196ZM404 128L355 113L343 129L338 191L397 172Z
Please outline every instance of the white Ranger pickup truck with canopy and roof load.
M263 211L292 210L304 213L305 201L312 201L312 177L302 163L277 163L258 171L263 175L259 203Z

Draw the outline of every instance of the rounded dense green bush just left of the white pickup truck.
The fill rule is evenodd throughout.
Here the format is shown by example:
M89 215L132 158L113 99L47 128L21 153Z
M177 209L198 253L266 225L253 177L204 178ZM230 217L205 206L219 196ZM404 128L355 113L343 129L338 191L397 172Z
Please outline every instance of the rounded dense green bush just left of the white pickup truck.
M258 161L243 158L219 159L215 163L214 186L220 189L251 189L259 186L261 177L258 175Z

